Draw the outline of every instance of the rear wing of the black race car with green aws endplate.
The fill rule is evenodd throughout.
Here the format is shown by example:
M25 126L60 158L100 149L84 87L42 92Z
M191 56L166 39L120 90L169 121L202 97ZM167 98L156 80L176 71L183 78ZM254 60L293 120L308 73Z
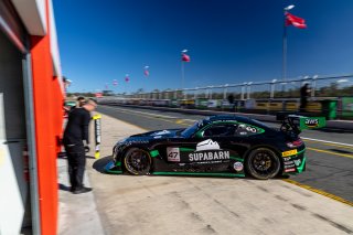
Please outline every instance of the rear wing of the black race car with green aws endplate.
M304 117L293 114L277 114L277 120L281 120L280 130L299 135L306 129L317 129L327 126L324 117Z

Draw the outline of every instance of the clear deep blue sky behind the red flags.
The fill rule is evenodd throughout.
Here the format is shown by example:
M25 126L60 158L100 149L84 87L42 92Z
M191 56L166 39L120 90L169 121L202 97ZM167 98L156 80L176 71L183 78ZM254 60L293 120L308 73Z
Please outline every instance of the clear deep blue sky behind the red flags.
M53 2L63 75L73 81L68 92L180 88L184 49L188 88L280 79L289 4L308 29L287 28L287 77L353 74L352 0Z

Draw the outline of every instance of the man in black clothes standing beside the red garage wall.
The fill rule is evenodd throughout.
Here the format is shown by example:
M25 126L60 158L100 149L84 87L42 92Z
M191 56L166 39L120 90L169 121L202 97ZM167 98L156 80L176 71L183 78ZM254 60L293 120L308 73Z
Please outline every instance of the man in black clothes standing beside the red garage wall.
M92 191L83 184L84 172L86 167L85 150L89 151L88 125L90 121L90 111L95 110L97 103L94 99L68 114L67 125L64 131L63 143L65 147L71 191L74 194L86 193ZM84 145L85 141L85 145Z

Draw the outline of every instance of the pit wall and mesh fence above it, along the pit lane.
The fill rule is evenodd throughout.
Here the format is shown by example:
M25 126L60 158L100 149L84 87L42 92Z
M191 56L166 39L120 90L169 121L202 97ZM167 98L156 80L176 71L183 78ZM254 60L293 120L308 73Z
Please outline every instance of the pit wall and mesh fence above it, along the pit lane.
M99 102L110 105L150 105L275 114L299 111L300 88L306 83L309 84L311 92L309 103L306 109L300 110L301 113L324 115L328 119L353 119L353 75L154 90L107 96Z

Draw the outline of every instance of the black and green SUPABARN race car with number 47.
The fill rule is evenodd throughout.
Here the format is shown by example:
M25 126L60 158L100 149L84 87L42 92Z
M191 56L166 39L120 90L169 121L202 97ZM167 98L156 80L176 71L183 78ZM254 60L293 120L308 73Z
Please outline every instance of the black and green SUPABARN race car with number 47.
M306 170L301 129L324 118L279 116L280 129L239 116L212 116L185 129L156 130L118 141L107 173L245 177L267 180Z

